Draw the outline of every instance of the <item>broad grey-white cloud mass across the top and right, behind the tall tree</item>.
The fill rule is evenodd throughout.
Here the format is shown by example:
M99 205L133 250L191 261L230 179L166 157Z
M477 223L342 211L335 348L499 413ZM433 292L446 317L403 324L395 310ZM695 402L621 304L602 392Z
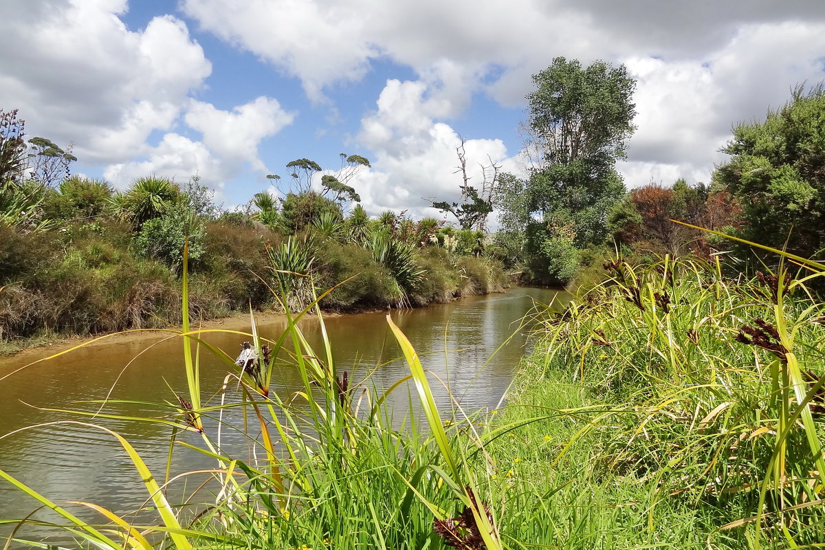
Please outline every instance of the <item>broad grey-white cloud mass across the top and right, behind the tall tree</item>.
M620 165L629 185L673 174L706 181L733 123L781 105L796 82L823 78L819 0L512 0L483 7L471 0L269 0L240 9L229 0L184 0L182 9L205 30L299 78L316 98L337 82L362 78L375 59L413 68L417 81L389 82L380 115L362 121L361 143L386 166L432 155L432 143L445 135L435 123L460 115L475 93L524 106L530 75L564 55L626 63L639 79L639 130ZM422 89L426 98L410 101Z

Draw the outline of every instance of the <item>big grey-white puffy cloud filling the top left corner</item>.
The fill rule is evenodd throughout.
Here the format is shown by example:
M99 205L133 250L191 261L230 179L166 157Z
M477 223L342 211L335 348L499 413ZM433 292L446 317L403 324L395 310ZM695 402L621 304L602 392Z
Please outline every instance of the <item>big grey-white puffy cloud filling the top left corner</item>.
M142 31L119 19L116 0L12 2L0 19L0 104L15 106L30 134L76 143L88 162L145 153L170 129L186 97L211 72L186 25L158 16Z

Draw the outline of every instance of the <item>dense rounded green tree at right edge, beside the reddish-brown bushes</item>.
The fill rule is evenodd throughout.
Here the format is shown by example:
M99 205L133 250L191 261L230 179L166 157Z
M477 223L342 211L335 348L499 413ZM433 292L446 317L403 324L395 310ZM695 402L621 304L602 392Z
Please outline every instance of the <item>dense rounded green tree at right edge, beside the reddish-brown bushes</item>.
M825 87L794 88L764 122L740 124L722 149L714 188L742 204L742 234L813 256L825 247Z

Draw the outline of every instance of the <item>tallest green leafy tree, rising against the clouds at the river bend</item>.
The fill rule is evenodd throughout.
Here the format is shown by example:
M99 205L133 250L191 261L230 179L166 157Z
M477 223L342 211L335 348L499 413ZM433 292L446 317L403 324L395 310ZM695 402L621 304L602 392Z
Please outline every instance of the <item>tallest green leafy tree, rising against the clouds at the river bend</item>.
M577 249L605 241L608 210L625 194L615 162L634 130L635 81L624 65L558 57L533 82L523 125L529 175L502 175L499 205L507 233L524 228L525 259L544 270L535 275L563 282Z

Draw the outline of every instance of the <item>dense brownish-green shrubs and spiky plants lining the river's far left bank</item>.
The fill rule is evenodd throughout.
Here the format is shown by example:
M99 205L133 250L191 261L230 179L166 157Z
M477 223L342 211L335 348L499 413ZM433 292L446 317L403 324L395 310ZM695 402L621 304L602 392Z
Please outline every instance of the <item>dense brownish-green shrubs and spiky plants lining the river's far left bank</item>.
M0 339L86 335L180 322L181 260L188 242L193 319L292 307L337 288L325 308L393 308L484 294L506 284L482 257L482 235L394 213L370 220L312 192L290 194L281 211L259 194L260 212L220 213L193 181L181 190L144 178L120 194L70 178L42 189L31 223L0 226ZM265 214L265 215L262 215ZM286 228L301 228L293 235ZM297 263L296 263L297 262ZM290 275L288 272L304 273ZM291 281L281 288L281 283ZM346 282L344 282L346 281Z

